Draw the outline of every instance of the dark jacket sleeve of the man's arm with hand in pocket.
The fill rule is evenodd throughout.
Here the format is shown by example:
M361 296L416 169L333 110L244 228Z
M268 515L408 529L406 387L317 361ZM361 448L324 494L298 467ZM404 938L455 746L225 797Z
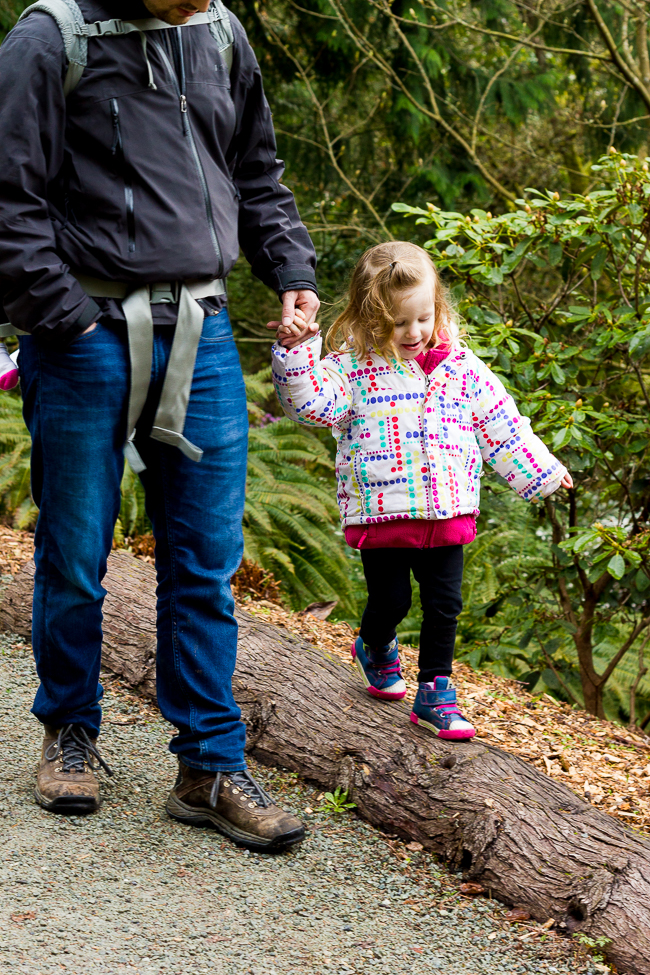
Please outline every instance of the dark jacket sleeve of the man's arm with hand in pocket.
M30 14L0 47L0 301L11 324L67 342L99 308L56 253L48 185L63 164L63 42Z

